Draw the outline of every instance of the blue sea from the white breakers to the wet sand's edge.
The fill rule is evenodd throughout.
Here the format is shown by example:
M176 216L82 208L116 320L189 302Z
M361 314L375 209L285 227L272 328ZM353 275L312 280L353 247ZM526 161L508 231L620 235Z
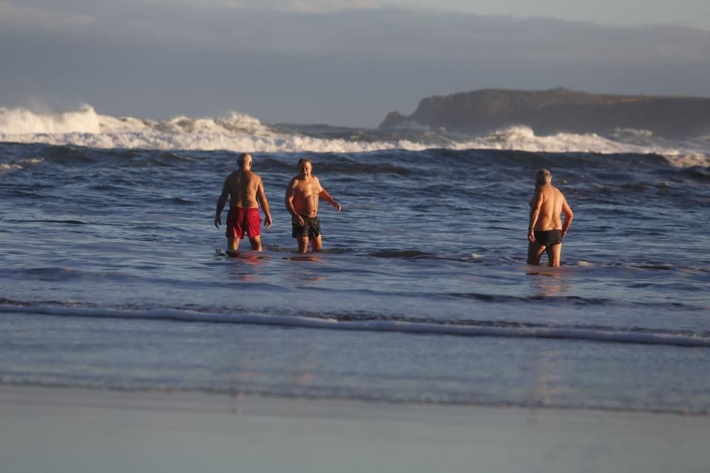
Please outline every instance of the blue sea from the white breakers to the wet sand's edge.
M0 112L2 384L710 409L708 137ZM232 256L243 151L274 223ZM317 254L283 206L300 157L343 207ZM525 264L542 167L559 268Z

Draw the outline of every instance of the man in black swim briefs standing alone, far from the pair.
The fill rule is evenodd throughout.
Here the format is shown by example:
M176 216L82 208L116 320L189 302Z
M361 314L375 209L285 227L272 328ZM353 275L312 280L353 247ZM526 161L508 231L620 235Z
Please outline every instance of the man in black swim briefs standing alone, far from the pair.
M567 199L557 187L550 184L552 174L540 169L535 174L535 192L530 200L528 225L528 265L539 265L542 252L547 252L547 265L559 266L562 238L567 235L574 213ZM564 214L564 223L559 217Z

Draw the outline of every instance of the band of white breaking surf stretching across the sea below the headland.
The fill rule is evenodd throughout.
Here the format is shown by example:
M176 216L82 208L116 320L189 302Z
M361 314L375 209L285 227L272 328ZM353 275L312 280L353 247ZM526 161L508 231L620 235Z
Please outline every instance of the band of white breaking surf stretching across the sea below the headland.
M511 126L486 136L471 137L422 131L378 134L371 139L329 138L283 130L242 113L224 118L178 116L166 121L99 115L84 105L65 113L34 113L26 108L0 107L0 140L19 143L80 145L91 148L148 148L160 150L230 150L253 152L370 152L431 148L492 149L529 152L655 153L676 166L710 166L710 138L682 142L655 138L644 130L623 130L613 138L594 133L537 136L527 126ZM398 133L407 138L398 139ZM359 134L354 133L354 137ZM381 139L378 139L381 136ZM628 139L627 139L628 138Z

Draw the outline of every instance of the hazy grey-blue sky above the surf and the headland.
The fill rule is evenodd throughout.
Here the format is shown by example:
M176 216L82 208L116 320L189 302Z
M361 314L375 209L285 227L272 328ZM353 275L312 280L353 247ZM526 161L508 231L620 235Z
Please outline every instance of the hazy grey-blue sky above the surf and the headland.
M0 0L0 107L376 127L483 88L710 96L710 1Z

